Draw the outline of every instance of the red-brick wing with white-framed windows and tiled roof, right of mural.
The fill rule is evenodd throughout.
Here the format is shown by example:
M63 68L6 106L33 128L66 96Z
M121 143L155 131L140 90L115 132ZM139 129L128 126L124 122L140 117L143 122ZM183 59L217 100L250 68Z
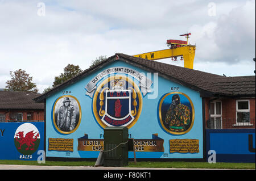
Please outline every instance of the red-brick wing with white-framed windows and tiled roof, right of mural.
M208 129L255 128L255 76L212 78L220 92L205 98Z

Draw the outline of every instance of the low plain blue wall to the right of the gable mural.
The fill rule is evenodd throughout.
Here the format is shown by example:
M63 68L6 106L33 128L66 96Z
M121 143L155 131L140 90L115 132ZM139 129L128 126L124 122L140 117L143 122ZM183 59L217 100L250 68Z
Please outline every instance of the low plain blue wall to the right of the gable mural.
M216 151L217 162L255 163L255 129L207 129L206 133L207 153Z

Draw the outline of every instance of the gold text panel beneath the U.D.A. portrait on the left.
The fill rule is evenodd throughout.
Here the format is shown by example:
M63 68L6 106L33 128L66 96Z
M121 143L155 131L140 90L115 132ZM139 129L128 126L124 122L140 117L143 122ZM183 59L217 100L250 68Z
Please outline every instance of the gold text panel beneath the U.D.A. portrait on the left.
M73 151L73 139L65 138L49 138L48 150L49 151Z

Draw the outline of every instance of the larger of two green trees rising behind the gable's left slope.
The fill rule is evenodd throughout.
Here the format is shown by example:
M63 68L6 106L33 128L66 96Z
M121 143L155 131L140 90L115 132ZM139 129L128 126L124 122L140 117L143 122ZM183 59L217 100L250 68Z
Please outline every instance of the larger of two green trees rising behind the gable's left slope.
M67 81L68 79L75 77L75 75L79 74L82 70L79 65L68 64L64 68L64 73L61 73L59 76L54 78L54 82L52 87L60 85L61 83Z

